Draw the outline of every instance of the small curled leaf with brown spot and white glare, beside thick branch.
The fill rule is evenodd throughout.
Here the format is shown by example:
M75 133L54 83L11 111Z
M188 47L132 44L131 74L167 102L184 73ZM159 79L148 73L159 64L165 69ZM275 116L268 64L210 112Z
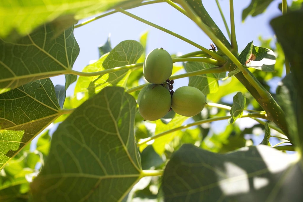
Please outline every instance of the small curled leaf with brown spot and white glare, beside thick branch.
M244 67L251 67L265 72L275 71L276 56L275 53L263 47L254 46L253 41L248 43L241 54L238 56L238 60ZM231 77L241 70L237 67L235 70L228 73Z

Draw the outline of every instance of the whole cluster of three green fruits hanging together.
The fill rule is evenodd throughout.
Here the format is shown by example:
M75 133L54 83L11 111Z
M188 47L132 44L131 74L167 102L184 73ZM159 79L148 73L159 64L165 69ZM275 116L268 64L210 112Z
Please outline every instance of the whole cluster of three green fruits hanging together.
M148 53L143 64L143 75L151 84L142 88L138 95L139 113L144 120L163 118L171 109L190 117L204 108L205 95L198 88L183 86L174 92L172 87L168 87L171 74L172 59L167 51L156 48Z

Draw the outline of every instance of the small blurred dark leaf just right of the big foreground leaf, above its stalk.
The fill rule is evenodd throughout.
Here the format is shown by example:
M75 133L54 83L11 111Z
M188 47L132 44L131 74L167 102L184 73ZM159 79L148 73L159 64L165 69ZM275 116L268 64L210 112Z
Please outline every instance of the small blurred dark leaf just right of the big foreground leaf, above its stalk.
M155 152L152 145L148 145L141 153L142 169L148 170L151 167L158 167L163 164L162 158Z

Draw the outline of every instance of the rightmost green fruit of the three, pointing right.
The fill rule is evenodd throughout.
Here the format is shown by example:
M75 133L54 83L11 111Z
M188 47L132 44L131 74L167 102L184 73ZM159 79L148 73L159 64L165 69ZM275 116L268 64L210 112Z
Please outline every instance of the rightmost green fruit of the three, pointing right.
M171 108L182 116L195 116L206 104L205 95L192 86L178 88L172 95Z

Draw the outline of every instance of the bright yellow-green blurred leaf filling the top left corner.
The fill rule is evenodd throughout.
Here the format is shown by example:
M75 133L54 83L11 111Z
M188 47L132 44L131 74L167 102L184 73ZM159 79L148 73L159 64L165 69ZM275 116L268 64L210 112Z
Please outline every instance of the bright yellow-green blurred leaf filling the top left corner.
M20 0L1 1L0 37L19 33L26 35L38 26L54 20L54 26L60 28L72 26L77 20L106 11L123 0Z

